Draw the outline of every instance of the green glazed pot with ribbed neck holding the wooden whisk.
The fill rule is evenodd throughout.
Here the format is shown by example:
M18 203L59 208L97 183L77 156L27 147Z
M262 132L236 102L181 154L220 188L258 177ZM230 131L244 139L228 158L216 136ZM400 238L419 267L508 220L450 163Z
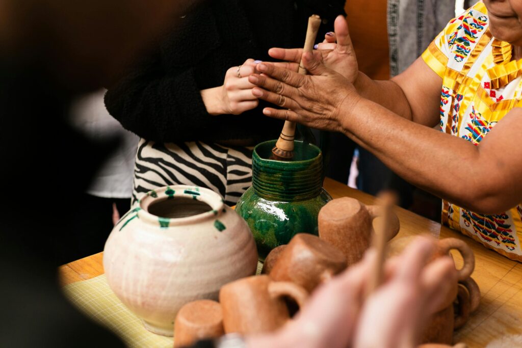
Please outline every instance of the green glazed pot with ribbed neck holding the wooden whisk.
M292 161L269 160L276 140L262 142L252 155L252 187L236 205L254 235L259 259L288 244L297 233L318 235L317 215L331 200L323 186L323 155L295 141Z

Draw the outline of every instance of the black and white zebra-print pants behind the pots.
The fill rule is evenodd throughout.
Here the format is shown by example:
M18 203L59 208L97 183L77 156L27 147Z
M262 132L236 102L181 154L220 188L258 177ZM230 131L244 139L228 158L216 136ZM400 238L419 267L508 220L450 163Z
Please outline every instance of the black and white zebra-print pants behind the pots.
M148 191L167 185L206 187L233 206L251 185L252 150L199 141L174 144L140 139L133 206Z

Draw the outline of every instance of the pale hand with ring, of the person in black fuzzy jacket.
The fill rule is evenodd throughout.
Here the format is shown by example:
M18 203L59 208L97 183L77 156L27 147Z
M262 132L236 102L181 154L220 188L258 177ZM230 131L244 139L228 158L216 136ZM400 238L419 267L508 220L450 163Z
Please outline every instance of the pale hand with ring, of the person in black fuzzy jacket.
M243 65L227 70L223 86L201 91L201 98L210 115L239 115L252 110L259 101L252 94L255 87L248 77L256 72L258 61L247 59Z

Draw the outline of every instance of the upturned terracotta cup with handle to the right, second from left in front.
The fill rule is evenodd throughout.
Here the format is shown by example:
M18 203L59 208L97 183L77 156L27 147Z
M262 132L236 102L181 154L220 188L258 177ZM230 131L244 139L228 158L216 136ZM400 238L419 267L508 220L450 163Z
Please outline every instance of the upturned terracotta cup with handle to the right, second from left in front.
M219 302L226 333L254 334L274 331L290 319L283 297L302 307L308 293L290 282L276 282L268 275L236 280L221 287Z

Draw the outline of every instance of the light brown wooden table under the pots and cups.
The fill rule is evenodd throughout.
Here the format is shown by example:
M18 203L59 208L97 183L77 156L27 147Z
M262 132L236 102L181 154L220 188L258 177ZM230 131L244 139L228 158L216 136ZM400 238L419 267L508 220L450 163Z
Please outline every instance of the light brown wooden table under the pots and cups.
M367 205L375 202L375 197L328 178L324 186L334 198L354 197ZM399 208L397 215L401 224L399 237L420 233L429 233L437 238L455 237L466 241L474 251L476 266L472 277L480 286L481 303L466 325L455 333L455 342L465 342L469 347L484 347L506 335L518 335L520 341L516 342L522 342L522 264L410 211ZM458 254L454 257L460 267L462 259ZM103 254L99 253L61 266L62 285L103 274L102 260ZM522 344L504 342L494 346L516 347Z

